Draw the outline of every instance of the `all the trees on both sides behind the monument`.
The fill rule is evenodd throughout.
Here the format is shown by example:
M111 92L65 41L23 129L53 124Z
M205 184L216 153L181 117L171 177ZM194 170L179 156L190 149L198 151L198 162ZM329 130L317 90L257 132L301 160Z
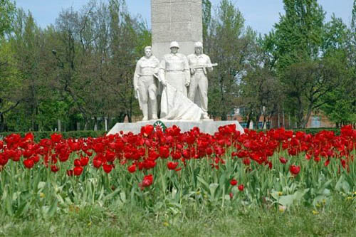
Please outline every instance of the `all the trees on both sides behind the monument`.
M204 51L219 63L208 76L212 117L243 107L246 122L283 112L304 127L322 110L338 125L355 123L356 1L347 28L335 15L325 22L317 0L284 0L285 13L263 37L234 1L219 1L215 13L210 0L202 3ZM55 130L58 120L66 130L93 130L103 117L141 115L132 73L152 32L124 0L63 9L46 28L2 0L0 38L0 131Z

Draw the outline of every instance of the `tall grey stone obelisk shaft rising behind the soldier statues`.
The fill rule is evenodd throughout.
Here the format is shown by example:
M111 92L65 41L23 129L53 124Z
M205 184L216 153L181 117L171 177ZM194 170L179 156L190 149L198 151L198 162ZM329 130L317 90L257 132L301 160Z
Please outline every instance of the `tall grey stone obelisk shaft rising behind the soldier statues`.
M202 0L151 0L152 50L161 59L169 43L177 41L179 53L194 52L194 43L203 41Z

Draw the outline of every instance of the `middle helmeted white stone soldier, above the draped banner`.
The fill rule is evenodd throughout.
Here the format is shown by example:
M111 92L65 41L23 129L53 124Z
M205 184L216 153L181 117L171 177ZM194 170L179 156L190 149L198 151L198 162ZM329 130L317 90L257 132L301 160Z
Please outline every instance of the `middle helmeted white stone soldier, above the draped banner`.
M159 63L159 78L163 85L169 83L187 96L190 83L189 64L187 57L178 53L179 44L173 41L170 45L171 53L163 56Z

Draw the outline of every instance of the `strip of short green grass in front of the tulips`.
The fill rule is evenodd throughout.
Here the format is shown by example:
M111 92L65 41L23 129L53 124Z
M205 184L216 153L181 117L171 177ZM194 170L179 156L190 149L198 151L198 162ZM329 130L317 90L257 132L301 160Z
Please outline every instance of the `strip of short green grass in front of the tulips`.
M318 208L293 206L283 212L276 207L183 209L172 214L129 206L85 206L70 207L53 218L0 214L0 236L355 236L356 232L356 199L343 196Z

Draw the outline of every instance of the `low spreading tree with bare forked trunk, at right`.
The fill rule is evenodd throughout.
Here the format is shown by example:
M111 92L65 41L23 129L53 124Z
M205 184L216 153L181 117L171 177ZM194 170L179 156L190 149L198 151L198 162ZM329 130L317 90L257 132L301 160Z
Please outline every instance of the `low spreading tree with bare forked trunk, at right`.
M342 63L345 62L339 58L325 57L293 63L284 70L286 80L282 86L298 127L305 127L312 112L329 102L326 100L328 93L347 85L347 69Z

